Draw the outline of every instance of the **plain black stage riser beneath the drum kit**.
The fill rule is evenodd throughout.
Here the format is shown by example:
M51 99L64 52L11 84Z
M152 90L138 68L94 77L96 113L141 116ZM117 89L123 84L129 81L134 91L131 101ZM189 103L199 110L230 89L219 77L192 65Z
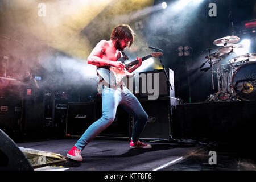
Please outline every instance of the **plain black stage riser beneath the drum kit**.
M254 137L256 101L177 105L174 138L230 140Z

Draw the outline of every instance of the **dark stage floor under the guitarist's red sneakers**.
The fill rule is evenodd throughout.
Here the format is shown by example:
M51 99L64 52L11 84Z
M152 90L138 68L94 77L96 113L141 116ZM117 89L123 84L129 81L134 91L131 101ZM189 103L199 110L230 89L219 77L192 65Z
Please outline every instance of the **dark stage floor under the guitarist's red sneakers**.
M66 156L77 138L16 143L18 147L54 152ZM148 142L148 141L146 141ZM51 171L255 171L253 148L246 144L179 140L151 142L151 149L131 149L129 140L94 139L81 152L83 162L67 159L64 163L39 167ZM216 164L210 164L210 151L216 152ZM213 159L213 158L212 158ZM210 159L212 162L213 160Z

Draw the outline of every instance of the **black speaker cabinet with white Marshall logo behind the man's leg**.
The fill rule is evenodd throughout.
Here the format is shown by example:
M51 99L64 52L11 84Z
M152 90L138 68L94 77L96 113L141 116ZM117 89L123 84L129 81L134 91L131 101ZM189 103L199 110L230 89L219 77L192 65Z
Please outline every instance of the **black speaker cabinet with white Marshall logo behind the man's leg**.
M93 102L74 102L68 104L66 135L80 137L95 121Z

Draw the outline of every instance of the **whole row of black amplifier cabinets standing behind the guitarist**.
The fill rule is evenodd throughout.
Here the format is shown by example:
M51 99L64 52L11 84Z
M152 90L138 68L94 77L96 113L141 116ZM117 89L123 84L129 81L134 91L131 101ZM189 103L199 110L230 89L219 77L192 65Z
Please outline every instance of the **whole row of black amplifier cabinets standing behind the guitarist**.
M148 100L149 92L139 94L138 100L148 114L148 122L141 133L141 139L170 139L172 135L172 115L176 105L182 104L182 100L174 97L174 72L166 69L170 77L171 86L167 85L166 75L162 70L143 72L159 77L159 97L156 100ZM154 81L154 79L152 79ZM148 83L148 80L146 80ZM142 88L140 82L140 88ZM154 82L152 82L154 88ZM80 137L84 131L102 115L101 97L94 102L69 103L67 113L66 135ZM102 131L98 138L124 138L130 139L133 133L134 117L126 113L122 106L117 107L114 122Z

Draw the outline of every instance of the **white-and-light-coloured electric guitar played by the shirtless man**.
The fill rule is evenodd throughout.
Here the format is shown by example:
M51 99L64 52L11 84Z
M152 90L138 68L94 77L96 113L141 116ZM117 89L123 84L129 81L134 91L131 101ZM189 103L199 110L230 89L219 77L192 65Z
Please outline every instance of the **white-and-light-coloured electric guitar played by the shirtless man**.
M142 61L147 60L150 57L162 56L162 52L153 52L150 55L142 57ZM121 61L125 65L125 69L108 67L108 68L97 68L97 75L100 77L100 83L104 81L104 84L118 86L124 77L133 77L134 73L129 73L127 69L133 67L133 65L138 64L139 60L131 61L125 64L126 57L120 57L117 61ZM102 85L100 85L102 86Z

